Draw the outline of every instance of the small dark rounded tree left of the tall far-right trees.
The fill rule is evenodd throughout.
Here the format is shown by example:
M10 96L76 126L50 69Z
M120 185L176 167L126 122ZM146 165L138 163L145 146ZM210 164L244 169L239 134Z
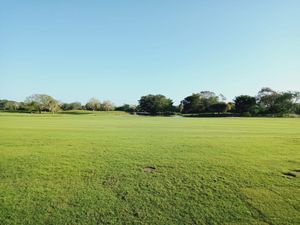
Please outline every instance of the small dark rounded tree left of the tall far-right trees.
M240 95L235 98L235 110L238 113L252 113L256 106L256 99L249 95Z

